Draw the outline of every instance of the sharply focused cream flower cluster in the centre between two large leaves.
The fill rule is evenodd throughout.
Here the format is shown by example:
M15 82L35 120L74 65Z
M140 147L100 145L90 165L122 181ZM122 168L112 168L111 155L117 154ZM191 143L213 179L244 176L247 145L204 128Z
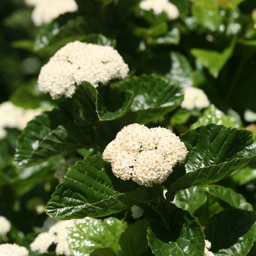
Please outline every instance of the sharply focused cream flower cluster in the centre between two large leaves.
M184 143L172 131L134 123L118 132L102 157L111 163L116 177L152 186L164 182L187 153Z

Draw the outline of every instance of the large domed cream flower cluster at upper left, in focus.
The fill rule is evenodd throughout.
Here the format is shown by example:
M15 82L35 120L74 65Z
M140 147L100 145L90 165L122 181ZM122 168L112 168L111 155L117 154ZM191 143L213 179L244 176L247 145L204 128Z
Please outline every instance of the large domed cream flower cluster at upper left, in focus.
M50 92L57 99L61 95L72 97L82 81L97 87L128 73L127 64L113 47L74 41L58 50L41 68L38 85L40 91Z

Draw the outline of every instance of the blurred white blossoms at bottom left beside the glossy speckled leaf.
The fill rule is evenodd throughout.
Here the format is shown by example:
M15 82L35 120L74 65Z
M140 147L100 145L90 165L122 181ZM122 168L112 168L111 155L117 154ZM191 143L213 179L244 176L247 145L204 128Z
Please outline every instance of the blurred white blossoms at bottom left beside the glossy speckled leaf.
M69 249L67 234L69 227L84 220L58 221L52 225L48 231L38 234L34 242L30 244L32 251L47 253L51 244L56 244L55 252L57 255L73 255Z

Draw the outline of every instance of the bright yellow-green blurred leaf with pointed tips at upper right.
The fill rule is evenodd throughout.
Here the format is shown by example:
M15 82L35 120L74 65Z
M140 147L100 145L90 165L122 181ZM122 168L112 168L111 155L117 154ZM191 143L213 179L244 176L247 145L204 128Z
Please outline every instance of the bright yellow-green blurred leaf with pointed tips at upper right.
M217 78L219 72L232 55L235 45L236 39L233 39L222 52L194 48L190 50L190 53L200 59L203 65L209 70L210 74Z

